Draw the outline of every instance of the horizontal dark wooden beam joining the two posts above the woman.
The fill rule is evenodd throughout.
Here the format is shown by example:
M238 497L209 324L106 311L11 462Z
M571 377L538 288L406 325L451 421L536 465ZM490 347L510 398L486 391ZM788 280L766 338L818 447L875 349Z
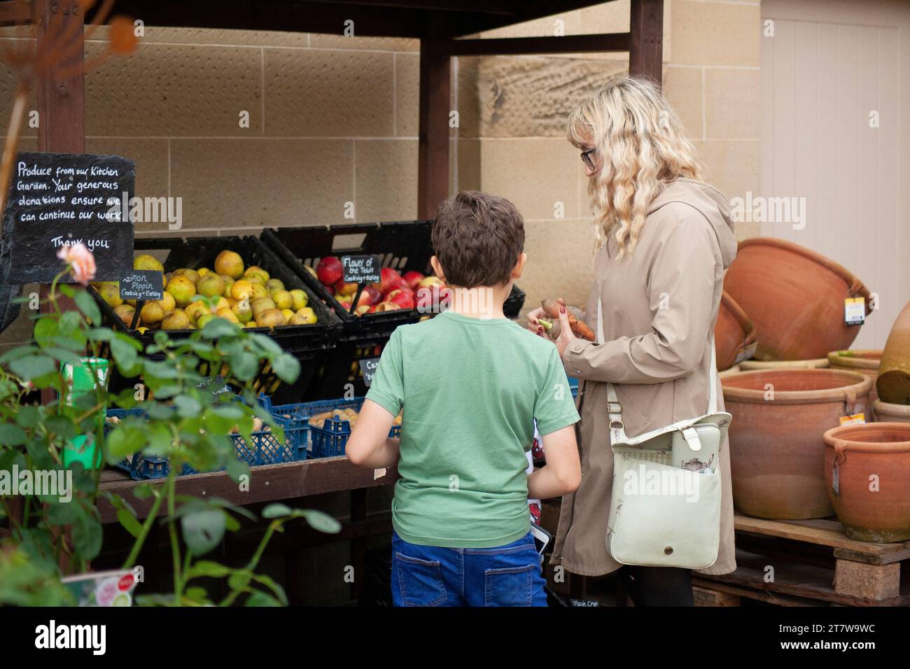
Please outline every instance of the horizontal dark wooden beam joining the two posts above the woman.
M564 37L497 37L453 39L440 45L450 56L515 56L628 51L630 33L565 35Z

